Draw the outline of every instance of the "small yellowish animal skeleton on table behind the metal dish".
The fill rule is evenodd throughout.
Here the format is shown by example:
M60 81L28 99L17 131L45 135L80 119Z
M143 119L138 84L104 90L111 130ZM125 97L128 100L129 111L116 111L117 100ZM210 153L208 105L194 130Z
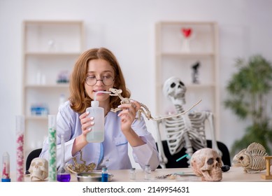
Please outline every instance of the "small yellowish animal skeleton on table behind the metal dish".
M94 170L94 167L96 167L96 164L94 162L86 165L86 161L83 160L82 151L80 151L80 161L82 161L83 163L78 164L76 158L73 158L74 165L67 164L66 168L69 170L69 172L73 174L79 174L82 172L92 172L92 170Z

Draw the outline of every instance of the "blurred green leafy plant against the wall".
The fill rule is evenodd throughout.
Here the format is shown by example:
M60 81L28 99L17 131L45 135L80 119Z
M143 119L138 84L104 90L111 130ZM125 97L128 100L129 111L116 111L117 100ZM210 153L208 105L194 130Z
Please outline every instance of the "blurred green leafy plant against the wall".
M271 153L272 127L267 115L267 94L271 90L272 66L262 55L253 55L248 61L236 59L238 72L234 73L227 85L228 98L224 106L231 109L241 120L250 120L241 139L234 141L231 155L247 148L252 142L258 142Z

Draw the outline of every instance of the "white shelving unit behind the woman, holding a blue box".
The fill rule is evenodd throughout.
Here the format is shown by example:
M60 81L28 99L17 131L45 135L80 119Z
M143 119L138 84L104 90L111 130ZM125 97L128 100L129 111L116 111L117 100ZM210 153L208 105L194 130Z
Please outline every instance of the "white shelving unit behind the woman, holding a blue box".
M69 75L84 49L84 25L82 21L24 21L22 33L24 153L28 155L42 147L48 114L57 114L61 94L69 97ZM48 111L31 111L35 105Z

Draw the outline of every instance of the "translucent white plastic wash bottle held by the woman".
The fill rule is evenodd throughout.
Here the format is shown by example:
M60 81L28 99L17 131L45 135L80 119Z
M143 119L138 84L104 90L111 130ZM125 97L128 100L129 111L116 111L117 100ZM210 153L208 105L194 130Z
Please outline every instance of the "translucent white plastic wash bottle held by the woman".
M94 125L92 131L87 134L87 141L90 143L104 141L104 109L99 107L99 101L96 101L97 93L108 93L108 91L98 91L94 94L94 101L91 102L91 106L86 109L89 111L88 117L94 117Z

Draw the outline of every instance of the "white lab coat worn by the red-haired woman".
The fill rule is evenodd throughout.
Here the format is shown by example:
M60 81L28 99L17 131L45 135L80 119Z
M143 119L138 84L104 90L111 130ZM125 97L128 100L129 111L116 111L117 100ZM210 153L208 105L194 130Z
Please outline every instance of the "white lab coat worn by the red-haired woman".
M108 169L130 169L131 162L128 155L128 141L120 129L120 118L117 113L108 112L105 117L105 139L101 143L89 143L83 148L83 160L86 165L91 162L96 164L95 169L106 166ZM70 102L65 102L59 107L57 114L57 167L61 164L61 135L65 141L65 161L73 164L72 146L76 137L82 134L80 114L73 111ZM131 128L138 134L145 144L132 147L132 155L135 162L144 168L149 164L152 170L159 165L159 153L156 148L155 139L148 132L143 116L141 120L135 120ZM41 158L48 159L48 139L43 142ZM80 161L80 153L76 154L77 162ZM100 163L100 165L99 165Z

